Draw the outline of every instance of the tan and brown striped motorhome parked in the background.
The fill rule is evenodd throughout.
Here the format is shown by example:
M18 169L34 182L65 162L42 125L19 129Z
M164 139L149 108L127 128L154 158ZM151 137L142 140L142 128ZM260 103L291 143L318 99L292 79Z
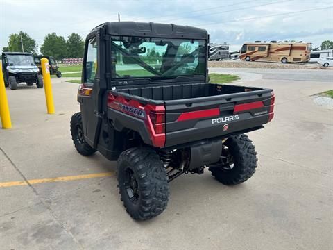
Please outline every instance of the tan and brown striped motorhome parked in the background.
M271 61L281 63L309 62L311 43L305 42L260 42L246 43L241 47L239 58L247 61Z

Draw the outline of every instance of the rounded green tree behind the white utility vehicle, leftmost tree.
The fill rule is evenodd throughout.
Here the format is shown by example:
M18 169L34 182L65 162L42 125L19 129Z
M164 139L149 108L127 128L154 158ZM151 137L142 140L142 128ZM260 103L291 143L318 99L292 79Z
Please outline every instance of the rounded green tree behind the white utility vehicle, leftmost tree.
M12 52L23 52L22 51L22 42L23 42L23 49L24 52L29 52L29 53L36 53L37 52L37 45L36 41L31 38L30 35L23 31L19 31L17 34L10 34L9 35L9 40L8 40L8 47L3 47L7 51L12 51Z

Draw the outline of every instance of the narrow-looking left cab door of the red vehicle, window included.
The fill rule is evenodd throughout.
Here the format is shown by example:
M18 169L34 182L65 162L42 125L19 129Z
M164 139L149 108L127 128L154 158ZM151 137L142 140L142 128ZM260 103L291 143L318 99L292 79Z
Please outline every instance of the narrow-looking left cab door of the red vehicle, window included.
M98 40L96 36L89 38L85 44L85 60L83 63L83 84L78 90L81 117L85 141L94 147L95 133L99 117L96 113L94 91L96 89L96 72L98 70Z

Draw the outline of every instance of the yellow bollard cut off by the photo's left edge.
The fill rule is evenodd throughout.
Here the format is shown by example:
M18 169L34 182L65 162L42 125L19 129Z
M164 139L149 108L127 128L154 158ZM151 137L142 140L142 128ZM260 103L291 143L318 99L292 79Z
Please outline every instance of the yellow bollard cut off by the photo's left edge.
M2 65L0 63L0 117L3 128L11 128L10 113L6 95L5 82L3 81Z

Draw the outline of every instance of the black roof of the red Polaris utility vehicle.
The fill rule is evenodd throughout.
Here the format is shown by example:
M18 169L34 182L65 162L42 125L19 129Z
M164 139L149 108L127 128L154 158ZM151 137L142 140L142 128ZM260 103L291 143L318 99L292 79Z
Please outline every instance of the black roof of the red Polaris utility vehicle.
M152 38L189 38L207 39L208 33L203 28L180 26L176 24L157 24L153 22L106 22L91 32L105 28L109 35L141 36Z

